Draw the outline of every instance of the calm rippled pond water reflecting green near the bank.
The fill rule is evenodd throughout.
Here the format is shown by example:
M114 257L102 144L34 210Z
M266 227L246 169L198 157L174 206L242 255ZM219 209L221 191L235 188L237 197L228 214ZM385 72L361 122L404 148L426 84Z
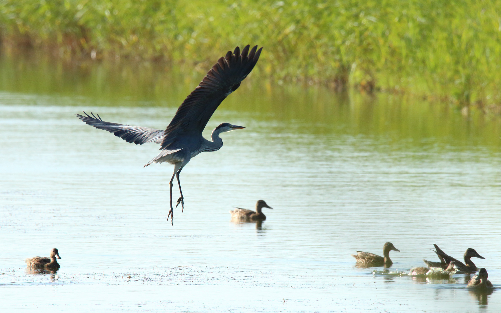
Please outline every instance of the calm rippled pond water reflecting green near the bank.
M6 311L498 312L469 276L392 272L473 258L501 288L501 121L405 98L249 79L216 111L243 130L183 170L185 212L167 222L172 166L78 120L163 129L203 75L152 64L0 58L0 307ZM174 187L174 190L177 190ZM177 191L174 193L177 199ZM267 220L230 222L264 199ZM24 259L57 247L56 273ZM8 299L8 300L6 300Z

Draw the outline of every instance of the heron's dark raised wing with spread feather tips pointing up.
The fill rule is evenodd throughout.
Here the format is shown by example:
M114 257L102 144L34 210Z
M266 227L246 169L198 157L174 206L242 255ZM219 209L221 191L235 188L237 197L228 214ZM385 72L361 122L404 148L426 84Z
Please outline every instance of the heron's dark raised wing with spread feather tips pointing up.
M239 86L258 62L261 50L255 46L236 47L220 58L209 70L200 84L189 94L177 109L176 115L165 129L160 149L167 148L182 134L201 134L219 104ZM256 51L257 50L257 51Z

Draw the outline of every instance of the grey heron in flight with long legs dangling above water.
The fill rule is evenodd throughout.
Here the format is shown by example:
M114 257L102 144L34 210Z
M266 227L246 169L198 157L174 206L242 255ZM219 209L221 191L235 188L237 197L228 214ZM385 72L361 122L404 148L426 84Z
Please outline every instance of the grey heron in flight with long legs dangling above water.
M191 158L205 151L217 151L222 147L220 133L242 126L222 123L212 131L209 141L202 136L202 131L219 104L239 86L240 82L247 77L258 62L261 54L258 46L249 52L249 46L245 46L240 54L240 48L236 47L233 53L228 51L226 56L219 58L217 63L209 70L200 84L193 90L179 106L169 126L165 130L153 129L140 126L105 122L99 114L97 117L84 112L85 115L76 114L86 124L98 129L104 129L127 142L142 145L145 142L161 144L160 153L144 166L151 163L168 162L174 165L174 173L169 181L170 187L170 223L173 224L172 209L172 181L177 178L179 193L181 196L176 202L177 207L181 204L184 212L184 197L179 182L179 173L188 164Z

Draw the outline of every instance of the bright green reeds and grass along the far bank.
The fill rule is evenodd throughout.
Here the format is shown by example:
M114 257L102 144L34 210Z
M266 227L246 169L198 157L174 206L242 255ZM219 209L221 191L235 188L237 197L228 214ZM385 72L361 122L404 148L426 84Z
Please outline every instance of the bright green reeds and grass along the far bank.
M278 83L499 108L500 13L501 1L488 0L0 0L0 34L8 47L202 72L248 43L264 47L257 75Z

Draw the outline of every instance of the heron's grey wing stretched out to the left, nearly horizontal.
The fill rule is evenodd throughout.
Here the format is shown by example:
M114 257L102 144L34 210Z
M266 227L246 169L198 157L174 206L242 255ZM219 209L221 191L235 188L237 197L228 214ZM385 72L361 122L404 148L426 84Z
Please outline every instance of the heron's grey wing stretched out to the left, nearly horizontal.
M99 114L97 115L98 117L94 114L90 116L87 113L85 113L86 116L80 114L75 115L88 125L107 130L115 136L120 137L127 142L133 142L136 145L142 145L145 142L162 143L164 137L164 131L161 129L105 122L101 119Z

